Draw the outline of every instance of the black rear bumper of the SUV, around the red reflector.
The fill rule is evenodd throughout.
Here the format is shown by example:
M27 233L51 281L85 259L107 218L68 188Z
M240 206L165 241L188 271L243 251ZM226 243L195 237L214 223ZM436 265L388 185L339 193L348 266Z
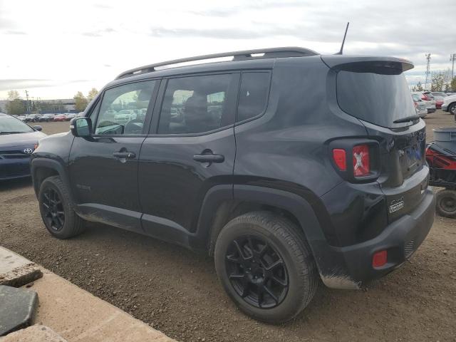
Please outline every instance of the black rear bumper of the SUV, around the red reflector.
M330 269L320 269L321 279L328 287L359 289L373 279L378 279L398 268L410 258L427 237L435 216L435 197L428 188L423 200L413 212L388 225L374 239L346 247L328 247L323 264ZM375 252L387 250L387 263L377 269L372 266Z

